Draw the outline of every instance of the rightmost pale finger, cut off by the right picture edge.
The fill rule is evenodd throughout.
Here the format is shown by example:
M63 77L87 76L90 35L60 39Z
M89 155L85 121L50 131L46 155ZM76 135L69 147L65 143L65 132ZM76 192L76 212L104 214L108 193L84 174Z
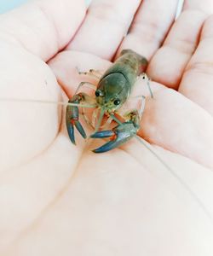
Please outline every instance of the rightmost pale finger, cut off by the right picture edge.
M204 23L199 47L183 74L179 91L213 115L213 15Z

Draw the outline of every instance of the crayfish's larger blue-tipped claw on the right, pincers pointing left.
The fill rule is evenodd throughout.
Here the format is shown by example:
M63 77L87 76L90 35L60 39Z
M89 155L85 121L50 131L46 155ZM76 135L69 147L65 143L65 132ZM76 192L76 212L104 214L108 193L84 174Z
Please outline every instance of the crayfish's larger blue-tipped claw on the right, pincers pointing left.
M136 135L137 129L135 125L129 121L124 122L122 125L117 125L112 131L97 131L90 137L93 138L105 138L111 137L111 141L105 143L100 148L95 148L94 153L104 153L113 148L118 148L122 144L128 142L132 137Z

